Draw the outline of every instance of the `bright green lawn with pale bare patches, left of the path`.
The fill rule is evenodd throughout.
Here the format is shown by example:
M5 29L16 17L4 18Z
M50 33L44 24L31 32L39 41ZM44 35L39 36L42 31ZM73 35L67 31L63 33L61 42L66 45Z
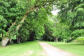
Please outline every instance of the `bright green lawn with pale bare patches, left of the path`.
M44 56L43 49L37 41L0 46L0 56Z

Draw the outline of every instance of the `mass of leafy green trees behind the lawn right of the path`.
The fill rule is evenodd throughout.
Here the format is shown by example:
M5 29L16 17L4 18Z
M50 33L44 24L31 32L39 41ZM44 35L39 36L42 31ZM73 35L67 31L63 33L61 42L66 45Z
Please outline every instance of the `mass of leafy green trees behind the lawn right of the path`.
M59 13L52 18L52 30L47 31L48 39L72 41L77 37L84 36L84 4L83 0L56 0L54 6ZM50 32L50 33L49 33ZM46 37L45 37L46 38Z

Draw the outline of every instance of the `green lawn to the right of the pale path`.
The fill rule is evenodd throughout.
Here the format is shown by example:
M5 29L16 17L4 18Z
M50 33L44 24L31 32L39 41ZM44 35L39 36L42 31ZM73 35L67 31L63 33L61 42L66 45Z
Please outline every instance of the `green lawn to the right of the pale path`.
M84 45L81 44L73 44L73 43L56 43L56 42L48 42L49 44L58 47L60 49L63 49L65 51L71 52L73 54L76 54L78 56L84 56Z

